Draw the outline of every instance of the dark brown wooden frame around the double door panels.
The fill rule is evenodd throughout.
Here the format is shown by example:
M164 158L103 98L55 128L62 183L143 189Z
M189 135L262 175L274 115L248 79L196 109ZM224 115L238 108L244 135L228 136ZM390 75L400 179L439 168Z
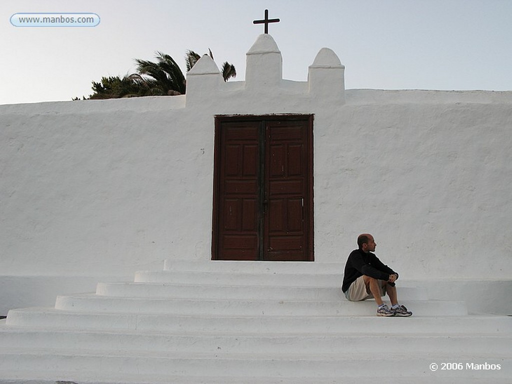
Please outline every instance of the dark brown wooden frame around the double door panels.
M211 260L218 260L218 223L219 223L219 187L220 187L220 146L221 146L221 125L224 122L244 121L293 121L302 120L308 122L308 251L307 260L314 261L314 207L313 207L313 120L314 115L283 114L283 115L216 115L215 116L215 140L214 140L214 190L211 227Z

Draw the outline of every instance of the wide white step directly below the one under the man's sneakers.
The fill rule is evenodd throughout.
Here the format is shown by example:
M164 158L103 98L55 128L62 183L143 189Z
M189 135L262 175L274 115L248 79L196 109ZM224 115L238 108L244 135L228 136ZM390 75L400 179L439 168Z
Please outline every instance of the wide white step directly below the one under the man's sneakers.
M386 345L390 353L419 350L421 353L450 351L453 355L474 354L483 357L510 356L512 333L465 334L452 333L318 333L318 334L239 334L229 333L161 333L142 331L86 331L48 328L0 327L0 345L3 349L32 348L34 345L49 349L110 351L148 351L183 353L353 353L368 352L368 345ZM483 348L482 346L492 346Z

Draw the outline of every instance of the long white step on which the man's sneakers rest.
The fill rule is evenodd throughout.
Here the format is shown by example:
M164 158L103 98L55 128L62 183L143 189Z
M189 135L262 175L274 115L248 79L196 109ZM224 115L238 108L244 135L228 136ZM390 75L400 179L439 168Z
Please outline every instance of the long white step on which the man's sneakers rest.
M254 333L495 333L512 332L512 318L493 316L381 318L370 316L218 316L86 313L53 308L9 311L7 325L61 329Z

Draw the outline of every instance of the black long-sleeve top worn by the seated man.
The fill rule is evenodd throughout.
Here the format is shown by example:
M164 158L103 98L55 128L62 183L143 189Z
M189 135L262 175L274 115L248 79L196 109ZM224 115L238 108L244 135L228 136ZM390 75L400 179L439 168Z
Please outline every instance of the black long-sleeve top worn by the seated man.
M346 292L350 284L362 275L387 281L389 280L389 275L393 274L398 275L393 269L382 263L375 254L354 250L350 253L347 264L345 264L342 290Z

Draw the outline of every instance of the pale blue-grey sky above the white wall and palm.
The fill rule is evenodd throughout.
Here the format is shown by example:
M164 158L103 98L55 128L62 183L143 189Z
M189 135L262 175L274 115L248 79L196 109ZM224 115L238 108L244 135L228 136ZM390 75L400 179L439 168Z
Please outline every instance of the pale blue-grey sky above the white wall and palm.
M347 89L512 90L512 0L2 0L0 104L69 101L92 81L136 72L134 59L211 49L245 77L269 25L283 77L306 81L318 51L346 66ZM19 13L93 13L94 27L16 27Z

